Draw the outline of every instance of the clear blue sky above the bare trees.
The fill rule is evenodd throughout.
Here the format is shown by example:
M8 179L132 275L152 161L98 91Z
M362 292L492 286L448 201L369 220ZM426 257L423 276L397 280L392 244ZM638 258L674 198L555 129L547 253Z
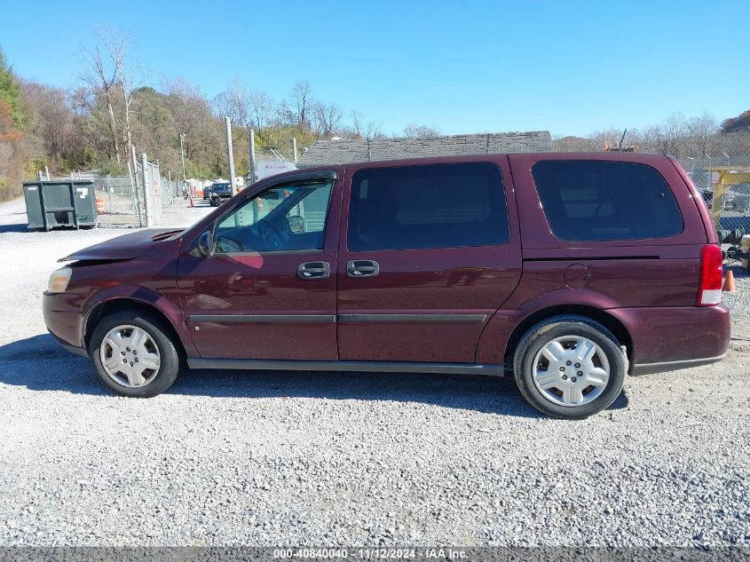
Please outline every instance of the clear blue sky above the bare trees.
M156 87L185 76L212 98L240 76L280 99L306 79L385 132L586 135L750 109L746 0L3 4L14 70L62 87L94 32L117 28Z

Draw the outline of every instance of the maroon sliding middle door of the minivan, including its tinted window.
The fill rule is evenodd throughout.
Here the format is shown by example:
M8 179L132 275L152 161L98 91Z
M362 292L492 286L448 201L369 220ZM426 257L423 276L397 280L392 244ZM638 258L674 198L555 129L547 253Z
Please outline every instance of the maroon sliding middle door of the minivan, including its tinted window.
M507 157L359 164L346 176L339 357L473 363L521 275Z

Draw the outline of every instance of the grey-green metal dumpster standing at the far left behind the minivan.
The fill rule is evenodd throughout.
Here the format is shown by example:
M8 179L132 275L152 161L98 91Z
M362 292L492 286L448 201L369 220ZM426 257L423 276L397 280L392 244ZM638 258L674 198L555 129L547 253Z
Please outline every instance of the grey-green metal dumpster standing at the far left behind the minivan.
M97 202L91 179L28 181L23 184L28 227L97 226Z

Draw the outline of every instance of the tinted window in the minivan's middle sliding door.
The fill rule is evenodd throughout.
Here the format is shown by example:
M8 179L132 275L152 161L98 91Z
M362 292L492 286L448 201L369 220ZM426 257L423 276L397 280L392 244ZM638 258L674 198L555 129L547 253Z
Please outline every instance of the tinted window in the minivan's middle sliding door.
M494 164L374 168L351 179L351 250L486 246L509 237L501 170Z

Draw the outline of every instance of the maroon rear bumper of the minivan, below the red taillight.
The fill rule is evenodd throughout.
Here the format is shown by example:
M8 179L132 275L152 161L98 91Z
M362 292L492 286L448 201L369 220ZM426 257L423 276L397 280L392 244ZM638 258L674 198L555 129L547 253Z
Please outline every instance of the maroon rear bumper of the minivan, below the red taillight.
M699 367L722 360L730 344L725 305L616 308L633 341L631 375Z

